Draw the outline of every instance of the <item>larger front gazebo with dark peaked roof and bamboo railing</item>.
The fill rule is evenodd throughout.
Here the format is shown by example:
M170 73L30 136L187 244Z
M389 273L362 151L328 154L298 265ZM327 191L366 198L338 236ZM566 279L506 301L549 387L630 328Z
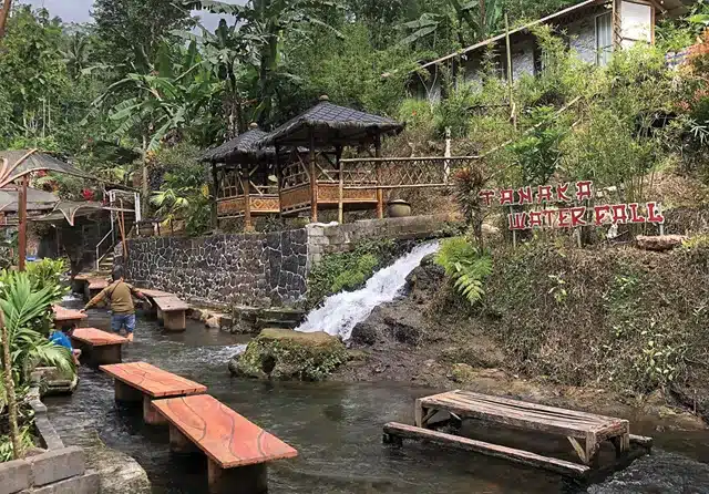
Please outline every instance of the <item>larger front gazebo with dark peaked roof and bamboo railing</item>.
M376 175L358 177L346 172L342 152L352 147L380 157L382 135L402 130L403 124L394 120L339 106L322 96L310 110L265 135L259 144L274 147L281 214L310 210L310 219L317 222L319 208L339 207L341 220L343 208L377 208L383 217L383 191ZM364 186L348 189L352 183Z

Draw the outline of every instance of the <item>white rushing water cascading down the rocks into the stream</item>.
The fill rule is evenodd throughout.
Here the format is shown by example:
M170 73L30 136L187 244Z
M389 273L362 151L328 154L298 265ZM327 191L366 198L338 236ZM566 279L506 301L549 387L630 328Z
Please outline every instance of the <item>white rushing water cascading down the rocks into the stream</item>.
M393 300L421 259L438 249L438 243L419 245L391 266L377 271L364 288L328 297L325 305L310 312L296 331L325 331L349 340L354 326L367 319L377 306Z

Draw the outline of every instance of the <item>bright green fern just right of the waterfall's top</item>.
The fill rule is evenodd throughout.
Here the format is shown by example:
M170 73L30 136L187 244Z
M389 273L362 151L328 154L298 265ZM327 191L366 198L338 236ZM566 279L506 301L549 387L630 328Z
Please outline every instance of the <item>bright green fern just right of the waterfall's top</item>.
M484 281L492 274L492 259L464 237L449 238L441 244L435 263L445 269L453 287L472 305L482 300Z

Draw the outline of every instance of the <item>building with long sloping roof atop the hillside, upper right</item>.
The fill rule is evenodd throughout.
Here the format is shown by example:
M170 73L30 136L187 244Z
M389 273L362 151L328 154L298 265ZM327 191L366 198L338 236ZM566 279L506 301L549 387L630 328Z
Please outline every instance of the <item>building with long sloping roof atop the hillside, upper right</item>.
M585 0L521 28L510 31L512 78L535 75L544 68L544 55L531 28L554 25L580 60L605 65L613 52L637 42L655 42L655 24L667 16L680 16L693 0ZM502 79L507 78L505 34L467 47L424 63L411 80L412 95L430 101L442 96L443 69L454 80L480 81L489 50Z

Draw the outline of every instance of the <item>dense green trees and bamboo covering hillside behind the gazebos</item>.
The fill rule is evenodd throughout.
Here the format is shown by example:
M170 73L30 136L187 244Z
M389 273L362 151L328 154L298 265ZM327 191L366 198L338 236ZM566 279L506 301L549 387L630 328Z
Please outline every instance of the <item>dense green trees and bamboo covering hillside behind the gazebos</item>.
M544 71L512 92L491 50L479 82L444 69L445 99L408 99L420 61L500 33L505 13L515 27L573 3L99 0L93 22L80 25L17 3L0 40L0 78L13 81L0 88L0 148L39 146L142 186L161 218L186 219L192 234L209 227L199 150L251 121L282 123L323 93L404 120L391 153L421 154L446 130L460 154L512 141L476 171L497 183L590 177L623 184L633 198L658 167L709 179L707 62L697 58L681 74L664 63L667 51L698 41L707 0L664 21L657 48L624 51L607 68L582 63L558 32L537 28ZM222 16L216 29L202 23L205 11ZM665 117L670 124L656 132ZM86 192L70 178L35 179L68 198Z

